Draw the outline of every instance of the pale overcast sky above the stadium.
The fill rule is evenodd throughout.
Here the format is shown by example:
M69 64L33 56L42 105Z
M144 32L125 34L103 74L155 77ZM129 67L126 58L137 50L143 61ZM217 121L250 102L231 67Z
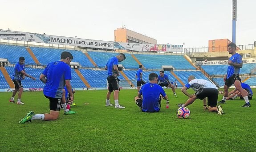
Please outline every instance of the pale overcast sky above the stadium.
M256 41L255 6L237 0L237 45ZM124 26L186 48L232 41L232 0L1 0L0 10L0 29L12 31L114 41Z

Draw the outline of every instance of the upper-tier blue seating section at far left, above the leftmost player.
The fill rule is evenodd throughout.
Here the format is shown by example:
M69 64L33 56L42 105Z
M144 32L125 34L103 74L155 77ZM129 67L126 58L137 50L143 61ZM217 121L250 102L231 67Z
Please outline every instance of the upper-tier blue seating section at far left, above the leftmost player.
M24 46L0 44L0 52L0 58L8 59L11 64L18 63L20 56L24 56L26 64L35 63Z

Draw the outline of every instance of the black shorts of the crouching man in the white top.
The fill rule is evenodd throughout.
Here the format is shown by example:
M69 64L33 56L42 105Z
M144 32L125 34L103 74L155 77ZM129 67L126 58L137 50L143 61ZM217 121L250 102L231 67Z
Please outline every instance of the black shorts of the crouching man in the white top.
M203 100L207 97L207 105L211 107L216 107L218 102L219 90L215 88L200 88L195 92L195 96Z

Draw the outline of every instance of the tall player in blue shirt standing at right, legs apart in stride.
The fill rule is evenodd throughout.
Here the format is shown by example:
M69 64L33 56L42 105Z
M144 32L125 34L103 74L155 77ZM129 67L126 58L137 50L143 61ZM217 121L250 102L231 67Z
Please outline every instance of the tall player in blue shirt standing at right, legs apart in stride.
M224 77L225 84L224 84L223 99L219 101L219 104L226 103L226 99L228 96L228 88L230 88L230 86L234 84L236 89L239 92L241 92L241 95L245 100L245 104L242 105L242 107L250 107L251 104L249 102L247 92L243 90L241 86L241 79L239 77L240 68L243 67L242 56L236 53L236 44L234 43L228 44L228 52L232 56L228 60L228 72L227 72L227 75Z

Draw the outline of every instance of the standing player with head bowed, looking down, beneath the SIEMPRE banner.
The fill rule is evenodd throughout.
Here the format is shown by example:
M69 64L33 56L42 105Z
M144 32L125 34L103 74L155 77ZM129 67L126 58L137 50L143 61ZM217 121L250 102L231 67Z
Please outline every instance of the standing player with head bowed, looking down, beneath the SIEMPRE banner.
M118 61L122 62L126 59L126 56L123 53L118 54L108 60L105 69L108 70L108 92L106 96L106 106L114 106L110 104L110 95L114 91L114 100L115 100L115 108L125 108L119 105L118 102L118 94L119 94L119 79L120 73L118 71Z

